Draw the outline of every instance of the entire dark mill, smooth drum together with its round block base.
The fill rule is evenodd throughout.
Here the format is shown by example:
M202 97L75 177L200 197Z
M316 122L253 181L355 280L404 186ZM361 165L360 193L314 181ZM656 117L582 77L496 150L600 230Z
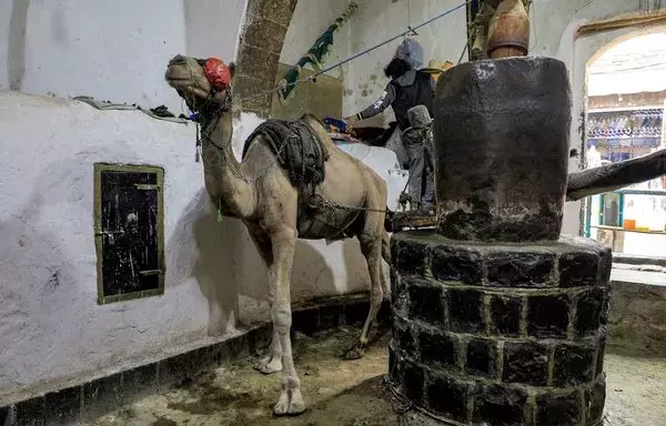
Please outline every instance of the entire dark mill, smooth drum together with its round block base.
M610 250L561 236L571 89L548 58L440 77L436 230L391 242L390 377L452 425L601 425Z

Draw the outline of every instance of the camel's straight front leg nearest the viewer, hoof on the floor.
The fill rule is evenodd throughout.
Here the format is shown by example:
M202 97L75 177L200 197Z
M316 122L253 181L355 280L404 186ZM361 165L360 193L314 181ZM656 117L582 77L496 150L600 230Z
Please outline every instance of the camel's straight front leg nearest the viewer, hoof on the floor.
M269 267L269 285L271 285L271 292L274 292L271 316L282 349L282 393L273 412L279 416L294 415L305 410L290 337L292 324L290 281L296 231L283 229L271 235L271 242L273 245L273 263Z

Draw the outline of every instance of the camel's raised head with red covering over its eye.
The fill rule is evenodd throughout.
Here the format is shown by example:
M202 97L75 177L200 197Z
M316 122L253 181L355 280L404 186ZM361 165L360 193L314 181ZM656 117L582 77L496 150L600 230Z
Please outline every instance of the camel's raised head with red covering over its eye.
M190 110L230 106L231 80L235 65L216 58L196 59L176 54L169 61L164 78Z

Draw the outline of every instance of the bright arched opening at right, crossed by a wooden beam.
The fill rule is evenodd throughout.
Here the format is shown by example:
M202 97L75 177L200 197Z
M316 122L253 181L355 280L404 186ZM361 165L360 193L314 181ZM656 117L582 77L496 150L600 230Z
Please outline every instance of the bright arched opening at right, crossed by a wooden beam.
M587 168L645 155L666 145L666 26L626 31L587 61ZM587 200L587 236L623 257L666 258L663 179Z

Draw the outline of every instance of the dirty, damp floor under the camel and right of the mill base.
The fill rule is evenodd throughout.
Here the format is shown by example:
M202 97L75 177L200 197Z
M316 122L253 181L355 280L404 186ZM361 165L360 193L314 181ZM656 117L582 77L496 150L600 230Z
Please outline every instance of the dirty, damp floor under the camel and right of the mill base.
M396 414L400 406L383 385L389 335L363 359L343 361L341 353L356 333L355 328L340 328L314 337L296 336L294 356L307 404L299 417L273 417L279 376L264 376L252 368L253 359L245 359L87 426L401 425L405 417ZM606 425L666 425L666 358L610 352L606 372Z

